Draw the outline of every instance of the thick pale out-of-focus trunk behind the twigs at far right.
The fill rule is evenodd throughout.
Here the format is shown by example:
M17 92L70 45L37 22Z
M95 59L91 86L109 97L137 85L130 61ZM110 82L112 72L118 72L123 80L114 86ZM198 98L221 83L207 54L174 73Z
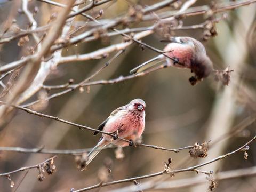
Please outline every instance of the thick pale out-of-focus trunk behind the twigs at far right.
M236 4L241 5L241 3L244 2L245 1L236 2ZM247 1L247 3L253 2ZM253 18L255 18L255 16L255 4L247 7L241 7L239 12L237 12L237 18L241 19L241 22L234 22L232 25L233 30L230 31L230 34L222 34L221 42L218 42L218 38L214 39L217 41L216 44L225 44L225 46L221 46L220 44L217 46L218 52L226 65L232 63L232 69L235 70L235 73L232 77L232 83L230 83L230 86L225 87L225 89L217 92L217 95L215 95L215 100L213 103L214 107L212 107L211 114L209 115L204 137L205 140L211 138L212 143L214 143L214 146L211 147L211 153L209 153L208 158L212 158L213 154L220 155L223 153L223 151L227 150L228 140L219 140L220 135L225 135L224 137L228 138L228 134L230 134L230 132L234 132L233 124L236 122L237 109L239 108L236 93L243 92L240 87L245 86L242 83L243 81L241 81L241 71L243 68L246 68L247 63L245 60L248 57L247 49L249 49L244 39L247 38L247 33L250 30L252 23L254 23ZM241 23L243 24L241 25ZM222 22L220 25L222 30L228 26L229 25L225 22ZM223 47L225 48L223 49ZM244 92L243 94L246 95ZM246 97L244 95L243 97ZM251 120L247 122L251 122ZM245 121L245 124L247 122ZM202 159L199 159L199 161L202 161ZM217 170L222 166L223 162L220 161L212 164L211 166L206 166L206 169ZM205 187L205 185L197 186L191 191L201 191Z

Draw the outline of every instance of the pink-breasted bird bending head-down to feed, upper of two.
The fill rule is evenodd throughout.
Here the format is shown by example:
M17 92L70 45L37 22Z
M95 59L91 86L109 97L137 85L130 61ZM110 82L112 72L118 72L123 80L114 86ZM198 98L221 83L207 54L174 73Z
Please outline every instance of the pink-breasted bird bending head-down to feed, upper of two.
M172 37L167 40L161 40L161 42L169 43L164 47L164 54L173 59L160 54L132 69L130 73L138 74L155 65L156 63L152 63L152 61L166 60L170 66L191 69L199 80L211 74L213 70L212 61L206 55L204 45L196 39L191 37Z

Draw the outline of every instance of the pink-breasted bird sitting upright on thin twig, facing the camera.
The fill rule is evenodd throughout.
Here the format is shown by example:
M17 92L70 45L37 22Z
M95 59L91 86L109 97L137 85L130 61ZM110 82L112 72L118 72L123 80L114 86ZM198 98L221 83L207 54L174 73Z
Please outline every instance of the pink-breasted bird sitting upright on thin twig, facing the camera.
M105 132L117 131L118 137L135 141L140 138L145 128L145 107L146 103L142 99L134 99L129 104L119 107L114 110L110 116L103 121L98 130ZM95 131L93 135L97 135L99 132ZM88 159L84 167L92 161L92 159L107 145L115 145L117 147L129 146L129 142L121 139L114 139L113 136L108 134L102 134L98 144L88 154Z

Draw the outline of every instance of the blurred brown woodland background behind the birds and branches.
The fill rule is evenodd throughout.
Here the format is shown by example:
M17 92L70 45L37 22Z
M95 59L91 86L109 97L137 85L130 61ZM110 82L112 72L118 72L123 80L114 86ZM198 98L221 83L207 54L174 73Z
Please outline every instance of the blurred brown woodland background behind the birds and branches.
M63 3L63 1L59 1ZM124 15L129 6L140 4L150 6L160 1L133 1L120 0L97 6L87 11L89 15L97 15L103 10L99 20L114 18L117 15ZM181 1L185 3L186 1ZM243 1L246 2L246 1ZM90 4L90 1L86 2ZM216 1L218 6L230 1ZM15 13L17 25L28 25L24 14L19 14L22 1L7 1L0 4L0 22L3 26L11 13ZM209 1L198 1L192 7L209 5ZM225 4L223 4L225 5ZM86 6L86 5L82 5ZM82 7L81 6L81 7ZM46 24L49 16L59 11L59 7L49 5L41 1L30 1L29 9L38 7L39 11L34 16L38 26ZM14 11L13 11L14 10ZM16 10L16 11L15 11ZM229 153L243 146L255 135L255 3L238 7L234 10L224 10L217 13L221 17L227 13L228 17L216 24L218 36L210 37L209 41L203 42L207 55L213 61L214 69L226 69L230 66L231 73L229 86L223 86L214 80L214 75L203 79L196 86L191 86L188 79L191 77L189 69L177 69L173 67L154 71L145 76L130 79L124 82L107 85L94 85L84 87L84 91L74 90L61 97L49 100L47 106L41 110L33 108L40 113L57 116L66 121L89 126L97 129L114 109L126 105L132 99L141 98L146 102L146 127L143 133L142 142L149 145L156 145L165 148L181 148L193 146L194 143L209 141L208 156L203 159L189 157L188 150L181 150L179 153L157 150L148 147L125 147L125 158L118 161L115 158L113 149L102 150L93 159L85 171L77 169L75 157L72 155L58 155L54 160L57 172L52 175L44 173L45 179L42 182L37 180L38 170L30 169L25 172L11 174L15 183L11 188L11 181L6 177L0 178L0 186L3 191L13 191L20 182L17 191L69 191L95 185L99 182L101 168L106 165L111 169L111 177L108 181L121 180L138 177L164 170L164 162L172 158L171 169L184 169L186 167L210 161L220 155ZM13 12L11 12L13 11ZM173 11L171 7L165 7L155 14ZM175 12L175 11L174 11ZM152 13L151 13L152 14ZM87 19L78 17L74 22L86 22ZM203 14L182 19L184 26L197 25L205 21ZM130 28L152 26L156 21L137 22L131 24ZM124 26L119 26L122 29ZM190 36L198 40L203 34L202 29L175 30L173 36ZM165 44L159 42L163 37L159 34L151 34L142 39L150 46L162 50ZM1 66L6 63L21 59L27 54L28 42L25 47L17 46L19 39L1 45L0 61ZM79 55L114 45L123 41L121 35L116 35L103 41L90 41L79 43L76 46L70 45L62 50L62 55ZM59 63L52 69L44 85L61 85L74 79L79 83L89 77L97 69L103 66L117 52L109 54L109 57L100 60L76 61ZM119 76L130 75L129 71L140 65L158 53L145 49L133 43L126 48L124 54L120 55L114 62L104 69L91 81L102 79L113 79ZM3 83L6 83L6 79ZM45 90L42 90L44 93ZM49 95L58 93L60 90L50 90ZM25 101L30 103L37 100L37 92L33 97ZM100 134L92 137L92 131L81 130L78 127L70 126L52 119L28 114L25 111L17 110L14 116L1 127L0 147L22 147L44 149L85 149L96 145ZM230 157L200 167L198 170L218 172L245 169L254 167L256 161L256 145L250 145L248 158L244 153L239 152ZM0 151L0 173L10 172L20 167L32 166L43 162L54 154L29 154L11 151ZM162 183L185 179L189 182L196 177L204 175L196 172L182 172L175 174L172 178L169 175L137 180L141 186L147 183ZM172 189L173 191L207 191L210 182L202 178L202 183L183 188ZM187 180L186 180L187 179ZM255 191L256 183L254 177L238 177L227 180L219 180L215 191ZM91 191L111 191L130 186L126 191L139 190L133 183L122 183L108 187L101 187ZM168 189L147 189L143 191L163 191ZM117 190L118 191L118 190Z

